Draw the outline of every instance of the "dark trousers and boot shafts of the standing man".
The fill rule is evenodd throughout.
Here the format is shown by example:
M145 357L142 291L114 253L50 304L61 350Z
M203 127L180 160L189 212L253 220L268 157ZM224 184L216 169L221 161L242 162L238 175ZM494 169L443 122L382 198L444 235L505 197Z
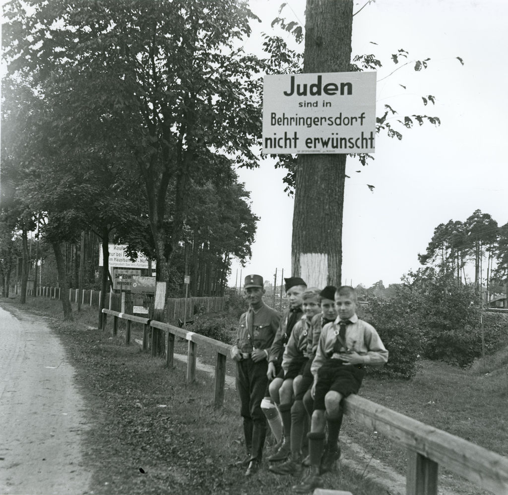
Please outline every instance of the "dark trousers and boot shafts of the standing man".
M237 363L236 389L240 397L240 414L243 418L245 447L252 459L261 461L266 437L266 417L261 401L268 386L268 363L255 363L242 359Z

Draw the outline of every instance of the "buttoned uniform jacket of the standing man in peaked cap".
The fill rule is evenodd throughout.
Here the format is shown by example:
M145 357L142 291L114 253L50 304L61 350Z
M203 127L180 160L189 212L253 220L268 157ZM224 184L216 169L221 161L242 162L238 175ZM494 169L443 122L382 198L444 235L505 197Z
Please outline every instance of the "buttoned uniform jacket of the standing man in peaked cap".
M235 345L240 352L269 349L279 328L281 314L263 304L255 313L251 308L240 316Z

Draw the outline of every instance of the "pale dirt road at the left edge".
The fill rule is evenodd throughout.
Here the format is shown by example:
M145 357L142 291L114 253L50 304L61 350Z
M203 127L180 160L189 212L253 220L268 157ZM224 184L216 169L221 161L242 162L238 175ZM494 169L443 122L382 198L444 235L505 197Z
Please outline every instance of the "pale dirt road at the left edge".
M85 493L80 436L88 428L59 340L0 308L0 493Z

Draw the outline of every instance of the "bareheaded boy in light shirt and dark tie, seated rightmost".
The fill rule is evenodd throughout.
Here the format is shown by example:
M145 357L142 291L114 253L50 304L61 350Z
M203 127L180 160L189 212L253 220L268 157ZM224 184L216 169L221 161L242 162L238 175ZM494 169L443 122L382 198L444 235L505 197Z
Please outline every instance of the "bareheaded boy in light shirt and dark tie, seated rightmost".
M355 289L342 286L335 293L337 319L323 327L316 355L310 367L314 376L312 396L314 412L309 439L310 474L293 486L297 493L307 493L323 486L322 463L330 466L340 456L337 447L342 423L343 398L357 394L365 374L364 365L384 365L388 351L372 325L356 314ZM325 427L328 426L326 455Z

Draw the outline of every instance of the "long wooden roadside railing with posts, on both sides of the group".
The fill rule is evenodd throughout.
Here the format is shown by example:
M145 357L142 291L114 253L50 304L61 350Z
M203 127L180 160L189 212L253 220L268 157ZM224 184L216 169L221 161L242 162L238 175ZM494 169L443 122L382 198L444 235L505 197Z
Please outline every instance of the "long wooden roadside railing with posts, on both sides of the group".
M217 360L215 365L214 402L215 406L223 405L226 360L231 349L230 345L166 323L149 321L108 309L103 309L103 313L103 330L106 329L107 314L113 314L115 322L117 319L127 320L128 327L131 321L143 323L145 325L144 349L147 348L147 327L151 328L152 337L153 329L164 331L167 344L166 361L170 368L173 367L175 336L187 340L186 381L188 383L195 380L197 345L203 344L215 349ZM115 333L116 328L115 322L113 333ZM125 342L129 343L127 337L125 337ZM151 346L151 352L152 356L155 356L156 349L154 349L154 346ZM407 448L407 495L437 495L439 466L466 478L495 495L506 495L508 493L508 458L450 433L425 425L392 409L375 404L363 397L351 395L344 400L344 403L345 414L351 415L355 421Z

